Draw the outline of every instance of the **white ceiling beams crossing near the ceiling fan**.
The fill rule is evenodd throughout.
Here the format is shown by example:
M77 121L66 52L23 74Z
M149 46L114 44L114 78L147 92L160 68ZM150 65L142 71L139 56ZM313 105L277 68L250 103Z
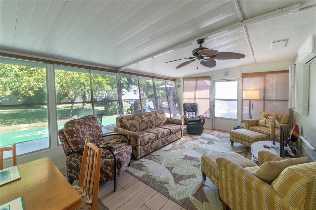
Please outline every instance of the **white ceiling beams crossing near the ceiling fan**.
M235 5L237 5L237 2L235 0L232 1L233 2L233 5L234 5L234 8L235 8ZM237 6L236 6L237 8ZM235 8L235 10L236 10ZM238 4L238 8L239 8L239 11L240 11L240 7L239 7L239 4ZM143 60L146 60L148 58L151 58L151 57L154 57L156 55L159 55L161 53L164 53L164 52L167 52L167 51L170 51L170 50L173 50L173 49L176 49L176 48L179 48L183 45L187 45L187 44L190 44L194 41L196 41L197 39L206 39L208 38L209 36L213 36L213 35L218 35L218 34L221 34L221 33L225 33L226 31L228 30L231 30L231 29L234 29L234 28L238 28L238 27L242 27L243 29L243 33L245 34L245 37L246 37L246 41L247 41L247 44L248 46L250 47L250 51L251 51L251 54L252 54L252 58L253 58L253 61L254 63L255 62L255 59L254 59L254 56L253 56L253 52L252 52L252 48L251 48L251 45L250 45L250 42L249 42L249 38L248 38L248 35L247 35L247 32L246 32L246 28L244 28L246 25L248 24L252 24L252 23L255 23L255 22L259 22L259 21L264 21L264 20L267 20L267 19L270 19L270 18L273 18L273 17L276 17L276 16L280 16L280 15L284 15L284 14L287 14L287 13L290 13L291 12L291 6L288 6L288 7L284 7L284 8L278 8L278 9L275 9L271 12L267 12L267 13L264 13L264 14L261 14L261 15L257 15L257 16L254 16L254 17L250 17L250 18L247 18L246 20L243 20L242 18L242 15L241 15L241 12L238 16L238 18L240 19L239 22L237 23L234 23L232 25L229 25L229 26L226 26L226 27L223 27L221 29L218 29L216 31L213 31L213 32L210 32L210 33L207 33L207 34L204 34L202 36L199 36L199 37L196 37L194 39L190 39L182 44L178 44L178 45L173 45L171 47L166 47L158 52L155 52L153 54L150 54L148 56L145 56L145 57L141 57L137 60L134 60L132 62L129 62L127 64L125 64L124 66L120 66L118 69L124 69L132 64L135 64L135 63L138 63L140 61L143 61ZM237 13L237 12L236 12Z

